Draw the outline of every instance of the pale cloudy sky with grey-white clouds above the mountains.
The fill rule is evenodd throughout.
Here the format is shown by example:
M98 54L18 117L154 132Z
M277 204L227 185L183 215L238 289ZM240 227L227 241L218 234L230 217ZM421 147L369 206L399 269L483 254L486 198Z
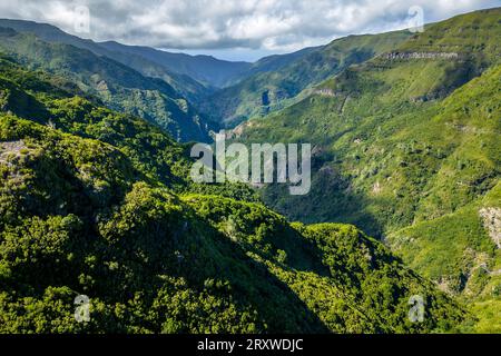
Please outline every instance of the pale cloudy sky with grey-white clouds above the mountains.
M433 22L499 6L501 0L0 0L0 18L48 22L97 41L255 60L351 33L409 28L420 18L415 9Z

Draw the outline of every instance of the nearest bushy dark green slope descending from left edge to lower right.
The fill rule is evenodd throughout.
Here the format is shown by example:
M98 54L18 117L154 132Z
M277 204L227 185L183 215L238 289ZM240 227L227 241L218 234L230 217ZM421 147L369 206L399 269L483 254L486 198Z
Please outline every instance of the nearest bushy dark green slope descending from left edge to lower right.
M230 198L244 187L200 195L183 147L67 88L0 59L0 332L426 333L468 317L352 226L289 225Z

